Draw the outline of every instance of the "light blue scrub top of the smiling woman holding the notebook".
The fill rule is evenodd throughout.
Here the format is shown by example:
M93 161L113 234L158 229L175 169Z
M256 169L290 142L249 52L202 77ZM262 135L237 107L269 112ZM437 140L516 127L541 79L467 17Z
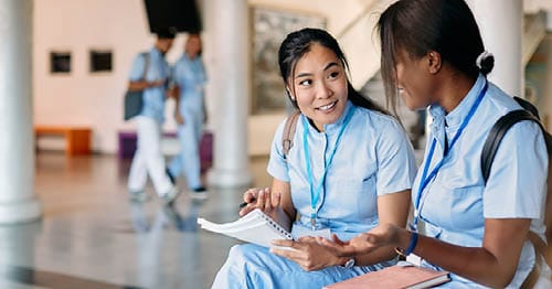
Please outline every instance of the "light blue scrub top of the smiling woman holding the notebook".
M350 239L378 225L378 196L410 190L416 164L411 142L401 125L392 117L355 107L348 101L346 111L335 124L325 125L325 132L308 126L308 146L314 183L323 172L326 158L333 150L337 135L349 109L353 109L332 163L328 170L317 207L317 225L330 228L340 238ZM310 191L302 149L302 118L297 121L294 146L284 159L282 133L285 121L276 130L268 173L289 182L291 199L301 215L298 226L310 227Z

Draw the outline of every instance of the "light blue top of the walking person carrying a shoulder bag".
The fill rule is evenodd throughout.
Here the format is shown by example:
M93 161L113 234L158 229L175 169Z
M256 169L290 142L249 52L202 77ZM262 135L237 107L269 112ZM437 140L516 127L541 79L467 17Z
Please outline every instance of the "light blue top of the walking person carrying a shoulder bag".
M149 52L149 63L148 72L146 73L146 81L156 82L160 79L169 79L170 68L169 64L163 57L163 54L152 47ZM145 58L141 54L138 54L130 69L130 82L139 82L144 74ZM167 86L161 85L157 87L149 87L144 90L144 108L140 116L146 116L153 118L158 122L162 124L164 121L164 100L166 100L166 89Z

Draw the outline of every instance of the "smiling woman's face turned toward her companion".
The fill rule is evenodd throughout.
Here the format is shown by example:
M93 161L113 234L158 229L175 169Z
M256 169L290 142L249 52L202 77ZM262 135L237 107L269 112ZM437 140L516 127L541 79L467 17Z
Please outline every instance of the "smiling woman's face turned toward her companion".
M343 114L347 104L347 75L333 51L312 43L297 61L287 83L301 113L319 131Z

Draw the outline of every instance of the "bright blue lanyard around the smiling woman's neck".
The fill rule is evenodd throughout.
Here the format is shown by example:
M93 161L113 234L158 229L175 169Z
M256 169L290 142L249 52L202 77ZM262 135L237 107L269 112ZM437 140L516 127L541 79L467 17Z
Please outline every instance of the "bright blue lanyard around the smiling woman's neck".
M326 179L326 174L328 173L328 169L331 164L331 161L333 160L333 156L336 156L336 150L339 146L339 141L341 140L341 135L343 133L343 130L346 129L347 125L351 120L352 114L353 114L354 107L350 107L349 111L347 113L346 118L343 119L343 124L341 125L341 128L339 130L338 137L336 139L336 143L333 146L333 149L326 159L326 167L323 168L322 175L320 176L320 180L318 181L318 185L314 185L314 178L312 178L312 168L310 167L310 154L309 154L309 147L308 147L308 141L307 141L307 136L308 136L308 120L306 117L302 118L302 148L305 150L305 163L307 165L307 178L309 181L309 189L310 189L310 207L312 208L312 213L310 214L310 224L312 226L312 229L316 227L316 218L317 218L317 208L316 205L318 204L318 200L320 200L320 193L322 191L323 186L323 181Z

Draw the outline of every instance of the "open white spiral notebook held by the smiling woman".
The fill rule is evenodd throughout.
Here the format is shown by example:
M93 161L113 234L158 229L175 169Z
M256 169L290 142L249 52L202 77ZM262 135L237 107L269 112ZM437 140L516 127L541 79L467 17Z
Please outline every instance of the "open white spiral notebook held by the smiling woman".
M206 231L264 247L273 247L273 239L294 239L289 232L258 208L231 223L216 224L200 217L198 224Z

